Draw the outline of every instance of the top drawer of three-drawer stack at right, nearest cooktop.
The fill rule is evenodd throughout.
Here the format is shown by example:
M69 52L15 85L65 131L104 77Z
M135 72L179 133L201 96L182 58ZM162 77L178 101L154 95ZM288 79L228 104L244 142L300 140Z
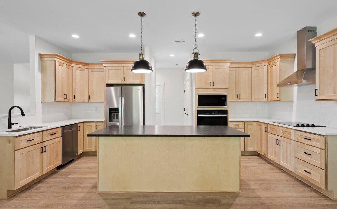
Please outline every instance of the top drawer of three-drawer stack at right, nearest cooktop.
M325 137L324 136L296 130L295 131L295 141L299 141L299 142L309 144L314 147L325 149Z

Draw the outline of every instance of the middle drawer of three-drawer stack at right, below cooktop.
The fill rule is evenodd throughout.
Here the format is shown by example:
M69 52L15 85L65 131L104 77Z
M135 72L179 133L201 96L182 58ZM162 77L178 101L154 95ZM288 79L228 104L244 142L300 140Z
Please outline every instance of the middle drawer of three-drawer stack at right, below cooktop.
M325 150L295 141L295 157L325 170Z

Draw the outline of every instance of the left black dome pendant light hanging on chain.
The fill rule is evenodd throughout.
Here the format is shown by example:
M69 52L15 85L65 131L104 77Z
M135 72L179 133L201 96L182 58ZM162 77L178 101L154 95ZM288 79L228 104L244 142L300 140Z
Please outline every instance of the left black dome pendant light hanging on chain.
M144 54L143 54L143 17L146 14L144 12L138 12L138 16L141 17L141 53L139 53L139 60L133 62L131 72L132 73L152 73L152 66L150 62L146 61L144 59Z

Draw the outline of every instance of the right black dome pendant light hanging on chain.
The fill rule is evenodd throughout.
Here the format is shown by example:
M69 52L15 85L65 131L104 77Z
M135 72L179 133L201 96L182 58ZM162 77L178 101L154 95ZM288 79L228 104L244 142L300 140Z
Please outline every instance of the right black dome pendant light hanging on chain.
M195 45L193 49L193 59L187 62L185 72L187 73L201 73L207 71L205 62L199 59L199 49L196 44L196 17L199 16L199 12L193 12L192 16L195 17ZM196 51L197 50L197 51Z

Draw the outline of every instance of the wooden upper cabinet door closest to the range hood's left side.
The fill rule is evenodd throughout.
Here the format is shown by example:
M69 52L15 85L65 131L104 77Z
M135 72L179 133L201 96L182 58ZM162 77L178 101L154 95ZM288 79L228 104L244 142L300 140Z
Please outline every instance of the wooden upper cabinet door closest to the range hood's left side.
M280 100L280 87L277 84L280 82L280 62L275 62L268 65L268 101L279 101Z

